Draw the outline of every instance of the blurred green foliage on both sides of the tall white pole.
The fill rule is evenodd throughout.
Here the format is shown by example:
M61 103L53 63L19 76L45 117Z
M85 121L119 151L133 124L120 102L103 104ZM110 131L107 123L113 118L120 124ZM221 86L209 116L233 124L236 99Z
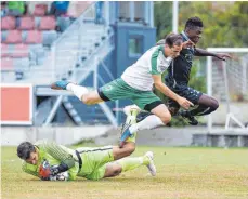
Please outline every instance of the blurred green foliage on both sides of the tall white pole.
M157 40L172 31L172 2L155 2L155 26ZM187 18L198 16L204 22L200 48L248 47L248 2L247 1L180 1L179 31L184 29Z

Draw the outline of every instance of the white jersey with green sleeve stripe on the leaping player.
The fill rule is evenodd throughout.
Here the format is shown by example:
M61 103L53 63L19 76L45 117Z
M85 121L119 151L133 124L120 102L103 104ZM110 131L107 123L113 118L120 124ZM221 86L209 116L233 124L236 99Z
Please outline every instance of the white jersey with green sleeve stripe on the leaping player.
M123 71L121 79L134 89L152 91L154 83L152 75L162 74L171 61L171 57L165 56L164 47L153 47Z

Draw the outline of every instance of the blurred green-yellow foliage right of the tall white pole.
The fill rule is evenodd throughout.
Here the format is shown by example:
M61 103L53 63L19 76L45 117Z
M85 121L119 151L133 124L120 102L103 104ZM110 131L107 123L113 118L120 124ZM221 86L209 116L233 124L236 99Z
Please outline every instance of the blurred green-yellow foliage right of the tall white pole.
M204 22L199 47L248 47L248 2L180 2L179 29L191 16Z

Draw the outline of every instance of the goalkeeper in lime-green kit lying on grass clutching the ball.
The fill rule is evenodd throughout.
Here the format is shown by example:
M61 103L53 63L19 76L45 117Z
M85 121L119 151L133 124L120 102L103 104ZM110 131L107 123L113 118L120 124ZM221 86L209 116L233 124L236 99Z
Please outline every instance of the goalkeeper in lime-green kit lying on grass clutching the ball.
M135 117L130 115L127 121L135 122ZM71 181L76 176L97 181L117 176L140 165L146 165L155 176L156 168L152 151L143 157L125 158L134 149L135 134L127 140L122 148L105 146L75 150L49 141L39 141L35 144L24 142L17 147L17 156L24 160L24 172L43 181Z

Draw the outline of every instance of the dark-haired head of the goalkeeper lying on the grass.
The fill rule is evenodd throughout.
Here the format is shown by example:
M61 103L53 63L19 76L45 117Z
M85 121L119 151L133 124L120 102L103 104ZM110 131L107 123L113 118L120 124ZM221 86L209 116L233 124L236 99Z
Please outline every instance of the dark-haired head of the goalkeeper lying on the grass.
M17 147L17 156L27 163L37 164L39 159L39 151L29 142L23 142Z

